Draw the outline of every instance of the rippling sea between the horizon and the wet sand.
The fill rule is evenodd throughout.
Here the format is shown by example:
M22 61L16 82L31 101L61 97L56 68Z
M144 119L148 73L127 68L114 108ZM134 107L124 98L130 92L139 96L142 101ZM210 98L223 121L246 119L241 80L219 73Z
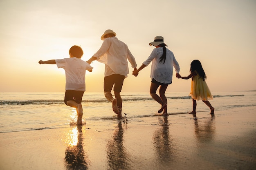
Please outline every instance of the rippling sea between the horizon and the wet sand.
M188 92L166 93L168 119L172 115L192 111L192 99ZM256 106L256 91L212 93L210 103L218 110L235 107ZM0 132L17 132L74 126L76 109L63 102L64 93L0 93ZM139 122L142 117L155 116L160 105L149 93L121 93L122 115L126 121ZM85 92L82 100L83 122L98 125L101 122L114 123L117 116L103 93ZM197 102L197 113L210 109L201 101Z

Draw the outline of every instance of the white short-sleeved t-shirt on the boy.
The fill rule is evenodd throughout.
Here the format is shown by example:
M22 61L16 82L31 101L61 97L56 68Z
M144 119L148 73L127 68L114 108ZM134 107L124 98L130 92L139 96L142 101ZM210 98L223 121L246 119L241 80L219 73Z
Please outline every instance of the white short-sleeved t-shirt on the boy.
M92 66L80 58L64 58L55 60L58 68L64 68L66 75L66 90L85 91L85 71Z

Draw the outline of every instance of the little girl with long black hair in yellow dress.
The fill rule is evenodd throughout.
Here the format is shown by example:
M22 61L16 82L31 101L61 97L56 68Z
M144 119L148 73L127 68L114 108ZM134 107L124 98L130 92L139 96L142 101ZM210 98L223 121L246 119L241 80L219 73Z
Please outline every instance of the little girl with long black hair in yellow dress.
M207 78L204 69L202 68L202 64L199 60L193 60L190 64L190 75L187 77L182 77L180 74L176 74L177 78L181 79L190 79L191 81L191 92L190 96L193 100L193 111L190 114L196 114L196 101L202 100L209 108L211 109L211 114L214 114L214 108L211 106L208 100L212 100L213 97L211 95L211 91L209 90L205 79ZM207 100L208 99L208 100Z

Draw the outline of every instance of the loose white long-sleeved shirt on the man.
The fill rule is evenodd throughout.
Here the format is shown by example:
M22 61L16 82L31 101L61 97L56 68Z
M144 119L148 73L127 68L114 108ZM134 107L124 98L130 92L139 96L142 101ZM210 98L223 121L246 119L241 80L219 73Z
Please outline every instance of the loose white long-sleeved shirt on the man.
M136 68L135 57L128 46L116 37L106 38L101 48L93 55L97 61L105 64L105 77L112 74L120 74L127 77L129 74L128 61L132 68Z

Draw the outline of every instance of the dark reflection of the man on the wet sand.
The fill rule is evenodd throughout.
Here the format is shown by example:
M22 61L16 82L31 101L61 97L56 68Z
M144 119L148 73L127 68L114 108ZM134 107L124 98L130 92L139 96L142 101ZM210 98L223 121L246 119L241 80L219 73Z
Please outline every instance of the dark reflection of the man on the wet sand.
M107 143L107 158L108 158L108 170L129 170L130 156L126 152L126 148L123 146L124 143L124 129L122 124L119 122L113 136L108 140Z

